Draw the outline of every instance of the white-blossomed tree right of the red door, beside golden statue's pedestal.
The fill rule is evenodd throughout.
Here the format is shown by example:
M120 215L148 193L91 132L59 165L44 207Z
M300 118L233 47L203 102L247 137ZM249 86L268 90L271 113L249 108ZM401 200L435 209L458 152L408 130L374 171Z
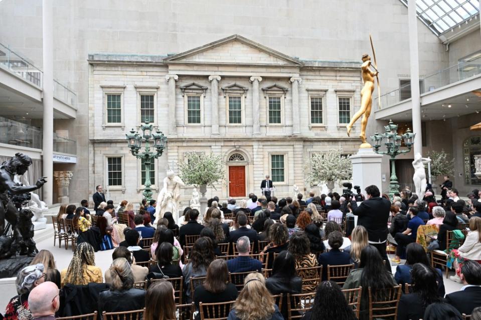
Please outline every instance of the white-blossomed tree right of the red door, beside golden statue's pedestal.
M337 180L351 179L353 172L351 160L343 156L340 150L312 153L306 168L307 183L315 185L325 181L330 192L333 191Z

